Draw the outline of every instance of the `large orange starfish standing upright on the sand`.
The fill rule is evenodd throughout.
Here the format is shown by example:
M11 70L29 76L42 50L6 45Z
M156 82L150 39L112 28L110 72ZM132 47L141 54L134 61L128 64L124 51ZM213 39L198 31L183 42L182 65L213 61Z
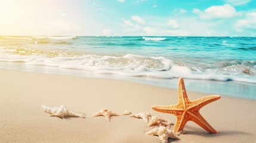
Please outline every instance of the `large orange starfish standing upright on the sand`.
M180 77L178 80L178 104L152 106L152 109L162 113L174 114L176 116L176 122L172 129L174 132L183 130L187 122L193 121L209 133L218 133L199 113L199 110L203 106L218 99L220 99L220 95L211 95L190 101L187 97L184 80Z

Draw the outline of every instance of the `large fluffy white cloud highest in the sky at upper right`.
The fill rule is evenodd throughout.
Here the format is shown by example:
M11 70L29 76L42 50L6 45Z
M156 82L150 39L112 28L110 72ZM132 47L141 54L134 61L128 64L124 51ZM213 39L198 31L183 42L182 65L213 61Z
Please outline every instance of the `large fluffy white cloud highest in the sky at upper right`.
M193 9L193 13L198 14L202 19L212 19L212 18L232 18L238 15L236 9L229 4L224 5L214 5L206 8L204 11Z

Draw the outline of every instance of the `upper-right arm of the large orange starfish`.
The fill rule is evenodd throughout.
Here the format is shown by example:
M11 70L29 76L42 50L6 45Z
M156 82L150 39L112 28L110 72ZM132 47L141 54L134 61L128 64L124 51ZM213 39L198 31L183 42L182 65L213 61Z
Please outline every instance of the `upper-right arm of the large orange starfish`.
M193 108L193 110L199 110L201 109L203 106L213 102L213 101L216 101L218 99L220 99L220 95L210 95L208 97L202 97L202 98L199 98L198 100L193 100L191 101L191 105L190 105L190 109Z

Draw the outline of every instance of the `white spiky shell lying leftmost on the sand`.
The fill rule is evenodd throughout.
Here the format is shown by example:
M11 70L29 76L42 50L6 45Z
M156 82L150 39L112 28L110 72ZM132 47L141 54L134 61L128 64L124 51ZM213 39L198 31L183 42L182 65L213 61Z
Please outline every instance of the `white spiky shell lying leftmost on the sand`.
M42 105L42 108L44 109L45 112L51 114L51 116L57 116L57 117L62 117L64 119L64 116L72 116L72 117L81 117L85 118L84 114L76 114L73 113L72 111L67 110L64 105L61 105L60 107L47 107L46 105Z

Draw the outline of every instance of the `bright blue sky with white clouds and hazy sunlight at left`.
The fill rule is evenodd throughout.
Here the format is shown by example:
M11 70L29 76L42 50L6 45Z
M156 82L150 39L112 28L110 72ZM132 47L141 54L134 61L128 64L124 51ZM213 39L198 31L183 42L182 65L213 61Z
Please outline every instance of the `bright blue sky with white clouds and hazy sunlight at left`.
M256 0L0 0L0 35L256 36Z

